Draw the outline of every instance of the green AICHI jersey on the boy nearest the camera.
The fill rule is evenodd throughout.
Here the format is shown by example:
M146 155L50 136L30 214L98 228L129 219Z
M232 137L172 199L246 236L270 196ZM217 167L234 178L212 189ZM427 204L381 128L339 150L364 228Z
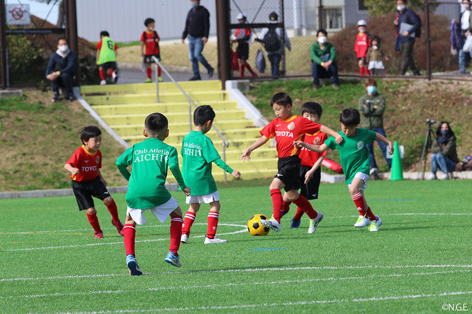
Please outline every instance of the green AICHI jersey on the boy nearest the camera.
M131 174L126 167L132 166ZM134 144L117 159L117 167L128 180L126 202L130 208L147 209L162 205L171 199L166 189L167 167L183 190L185 183L178 168L177 149L158 138L148 138Z

